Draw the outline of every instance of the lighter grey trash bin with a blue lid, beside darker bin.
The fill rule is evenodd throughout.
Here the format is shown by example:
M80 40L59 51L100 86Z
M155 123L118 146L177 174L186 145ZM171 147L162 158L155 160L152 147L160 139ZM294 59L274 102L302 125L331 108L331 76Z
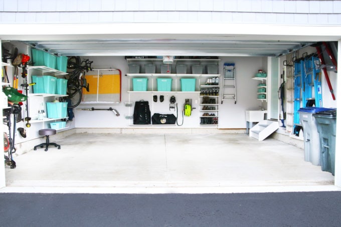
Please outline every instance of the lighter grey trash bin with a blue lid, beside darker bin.
M304 139L304 160L311 162L313 165L321 165L319 134L317 131L317 123L314 113L332 110L322 107L305 107L298 110L299 123L303 127Z

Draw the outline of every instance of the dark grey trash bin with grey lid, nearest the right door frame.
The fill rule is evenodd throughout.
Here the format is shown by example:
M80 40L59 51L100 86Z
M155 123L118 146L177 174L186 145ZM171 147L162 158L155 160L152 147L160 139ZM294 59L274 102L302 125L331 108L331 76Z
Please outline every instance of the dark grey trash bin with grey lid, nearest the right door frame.
M335 173L336 109L313 114L317 121L322 171Z

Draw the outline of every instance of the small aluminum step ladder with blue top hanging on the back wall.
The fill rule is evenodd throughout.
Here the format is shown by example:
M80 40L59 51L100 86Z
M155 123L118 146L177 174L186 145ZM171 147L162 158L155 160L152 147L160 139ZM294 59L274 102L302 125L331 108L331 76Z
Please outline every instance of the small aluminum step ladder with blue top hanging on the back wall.
M236 99L236 68L234 63L224 63L224 78L222 89L222 104L224 100Z

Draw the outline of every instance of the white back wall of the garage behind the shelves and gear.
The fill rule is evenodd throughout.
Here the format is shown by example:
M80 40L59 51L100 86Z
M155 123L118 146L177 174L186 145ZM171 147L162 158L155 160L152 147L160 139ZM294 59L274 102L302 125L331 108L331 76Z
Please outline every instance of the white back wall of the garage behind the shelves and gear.
M108 108L112 107L119 111L120 116L116 117L113 112L110 111L83 111L74 110L75 112L75 126L76 128L125 128L133 127L129 126L132 121L125 119L125 115L131 115L133 108L124 106L124 102L129 101L128 79L124 76L127 73L128 65L124 57L90 57L93 63L93 68L117 68L122 71L122 102L117 105L100 105L100 104L81 104L78 108ZM245 110L247 109L259 109L262 105L261 101L257 100L257 84L259 81L252 80L258 69L266 70L266 58L261 57L221 57L220 58L219 72L223 71L223 65L225 62L233 62L236 64L236 84L237 84L237 104L233 101L224 101L219 106L219 128L245 128ZM265 60L264 60L265 59ZM151 93L130 93L130 101L135 102L138 100L149 101L150 108L157 113L173 113L169 111L169 98L173 94L165 93L165 101L160 103L152 101ZM159 100L159 93L158 100ZM199 100L197 94L175 94L177 102L179 103L179 115L181 114L182 106L185 102L185 98L193 99L193 107L196 109L193 111L191 117L185 117L184 125L182 127L200 127L199 126ZM196 103L196 100L198 101ZM219 98L219 100L221 100ZM266 108L266 103L263 103L263 107ZM130 112L129 112L130 111ZM182 117L180 117L182 120ZM179 122L180 123L180 122Z

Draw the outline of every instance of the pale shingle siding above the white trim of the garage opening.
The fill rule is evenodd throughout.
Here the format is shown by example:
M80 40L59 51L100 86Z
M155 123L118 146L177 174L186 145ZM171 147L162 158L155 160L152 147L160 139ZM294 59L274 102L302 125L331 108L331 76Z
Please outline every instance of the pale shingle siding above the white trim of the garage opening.
M251 23L340 25L341 1L0 0L3 24Z

